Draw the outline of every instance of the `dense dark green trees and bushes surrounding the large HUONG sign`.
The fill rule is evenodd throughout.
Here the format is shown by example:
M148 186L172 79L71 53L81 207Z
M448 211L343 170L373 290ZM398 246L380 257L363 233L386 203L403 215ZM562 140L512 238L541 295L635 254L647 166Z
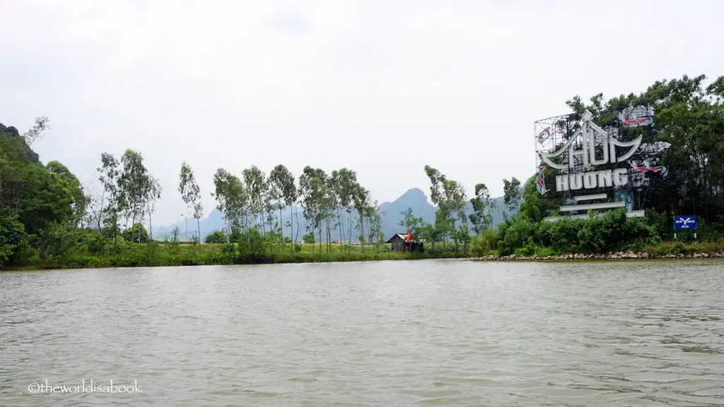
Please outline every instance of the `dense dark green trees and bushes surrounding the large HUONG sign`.
M602 217L562 219L557 216L560 198L543 198L531 177L522 191L523 202L496 232L473 238L473 256L547 258L579 255L620 256L621 252L647 256L694 256L724 252L724 77L704 87L704 76L661 81L647 91L605 101L601 94L584 104L568 101L574 115L586 110L599 125L615 118L625 106L647 104L654 108L655 126L647 129L647 142L669 143L660 165L668 175L649 188L634 191L644 218L627 218L623 209ZM517 191L506 189L506 201ZM680 231L674 240L673 216L696 215L693 231Z

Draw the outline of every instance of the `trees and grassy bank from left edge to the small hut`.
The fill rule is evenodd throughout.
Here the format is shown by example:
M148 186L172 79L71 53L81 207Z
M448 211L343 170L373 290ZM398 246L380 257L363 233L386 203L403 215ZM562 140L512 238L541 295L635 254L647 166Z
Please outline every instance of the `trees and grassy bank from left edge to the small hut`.
M441 230L429 232L431 244L424 253L392 253L381 230L384 213L354 171L327 174L306 167L295 177L283 165L268 176L254 166L240 176L219 168L210 193L226 226L202 243L201 188L193 169L182 163L178 192L193 211L196 233L192 244L182 244L177 229L158 242L152 219L163 190L143 156L130 149L119 158L101 154L100 188L86 189L63 164L44 165L30 148L47 127L44 117L22 135L0 125L0 267L427 259L465 253L457 238L454 245L449 241L450 231ZM282 209L289 209L288 218L282 219ZM304 230L300 215L306 219ZM421 234L434 229L411 214L407 219ZM289 235L282 235L283 224L290 227Z

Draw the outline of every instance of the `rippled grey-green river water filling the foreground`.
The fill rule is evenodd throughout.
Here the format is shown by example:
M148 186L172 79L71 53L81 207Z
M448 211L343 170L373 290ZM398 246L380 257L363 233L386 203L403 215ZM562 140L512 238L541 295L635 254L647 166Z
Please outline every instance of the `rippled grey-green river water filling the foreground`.
M724 405L724 263L0 273L0 406L542 405Z

